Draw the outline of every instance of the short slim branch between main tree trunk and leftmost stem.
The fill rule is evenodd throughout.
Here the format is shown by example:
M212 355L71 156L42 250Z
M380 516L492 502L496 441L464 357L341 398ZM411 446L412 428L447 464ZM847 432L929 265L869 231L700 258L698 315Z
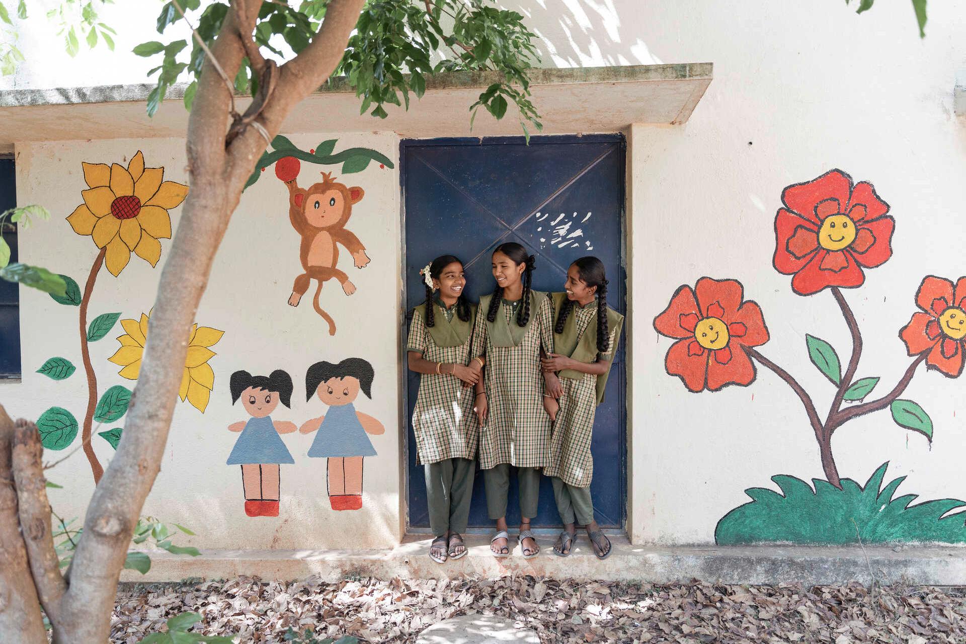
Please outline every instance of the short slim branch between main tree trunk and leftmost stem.
M50 503L43 477L43 446L37 426L23 420L14 423L14 485L20 528L27 548L30 570L43 610L51 622L60 617L60 602L67 582L60 574L60 561L50 530Z

